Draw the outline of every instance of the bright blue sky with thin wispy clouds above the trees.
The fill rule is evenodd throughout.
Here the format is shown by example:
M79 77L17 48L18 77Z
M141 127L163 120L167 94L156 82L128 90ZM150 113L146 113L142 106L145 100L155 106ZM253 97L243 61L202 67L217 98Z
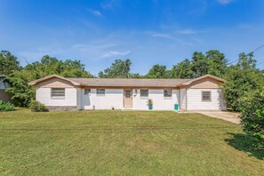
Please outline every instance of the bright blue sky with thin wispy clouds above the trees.
M0 50L22 65L49 54L97 74L129 58L132 72L146 74L195 51L220 50L231 61L261 44L263 0L0 0ZM264 61L264 47L255 60Z

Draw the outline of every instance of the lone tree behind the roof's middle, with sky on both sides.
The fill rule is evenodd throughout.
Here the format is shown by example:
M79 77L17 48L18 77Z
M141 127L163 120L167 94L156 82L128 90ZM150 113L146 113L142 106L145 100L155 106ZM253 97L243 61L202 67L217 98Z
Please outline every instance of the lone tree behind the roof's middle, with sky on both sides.
M107 78L114 78L114 77L120 77L120 78L128 78L130 77L130 67L131 67L131 60L115 60L114 63L112 63L112 66L110 68L106 68L103 72L100 71L98 74L99 77L107 77Z

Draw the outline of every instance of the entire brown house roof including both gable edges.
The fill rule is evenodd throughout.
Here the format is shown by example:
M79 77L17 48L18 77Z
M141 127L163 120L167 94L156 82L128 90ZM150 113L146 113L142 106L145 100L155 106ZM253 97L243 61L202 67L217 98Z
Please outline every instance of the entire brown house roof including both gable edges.
M74 85L98 86L98 87L178 87L180 85L188 85L205 77L224 82L225 80L217 76L205 75L195 79L134 79L134 78L73 78L62 77L57 75L45 76L43 78L32 81L28 84L36 85L53 77L66 80Z

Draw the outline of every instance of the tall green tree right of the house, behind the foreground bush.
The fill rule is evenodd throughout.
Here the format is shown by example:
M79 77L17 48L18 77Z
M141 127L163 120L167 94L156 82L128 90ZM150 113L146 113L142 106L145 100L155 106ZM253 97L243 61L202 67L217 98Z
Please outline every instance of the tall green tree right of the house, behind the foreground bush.
M241 111L244 97L258 92L263 88L264 76L262 71L255 68L256 60L253 53L239 54L238 63L228 68L225 76L224 93L227 105L235 111Z

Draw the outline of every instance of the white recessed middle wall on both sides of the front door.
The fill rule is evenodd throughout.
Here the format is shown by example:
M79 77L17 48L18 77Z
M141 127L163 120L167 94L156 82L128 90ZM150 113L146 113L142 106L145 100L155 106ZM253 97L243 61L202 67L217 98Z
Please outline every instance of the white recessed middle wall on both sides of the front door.
M174 104L179 103L179 90L172 90L172 98L164 98L163 89L149 89L148 98L140 98L140 89L132 90L132 108L124 108L124 89L106 89L105 96L97 95L96 89L91 89L90 95L84 94L84 89L80 90L82 99L80 109L136 109L148 110L147 100L153 100L154 110L173 110Z

